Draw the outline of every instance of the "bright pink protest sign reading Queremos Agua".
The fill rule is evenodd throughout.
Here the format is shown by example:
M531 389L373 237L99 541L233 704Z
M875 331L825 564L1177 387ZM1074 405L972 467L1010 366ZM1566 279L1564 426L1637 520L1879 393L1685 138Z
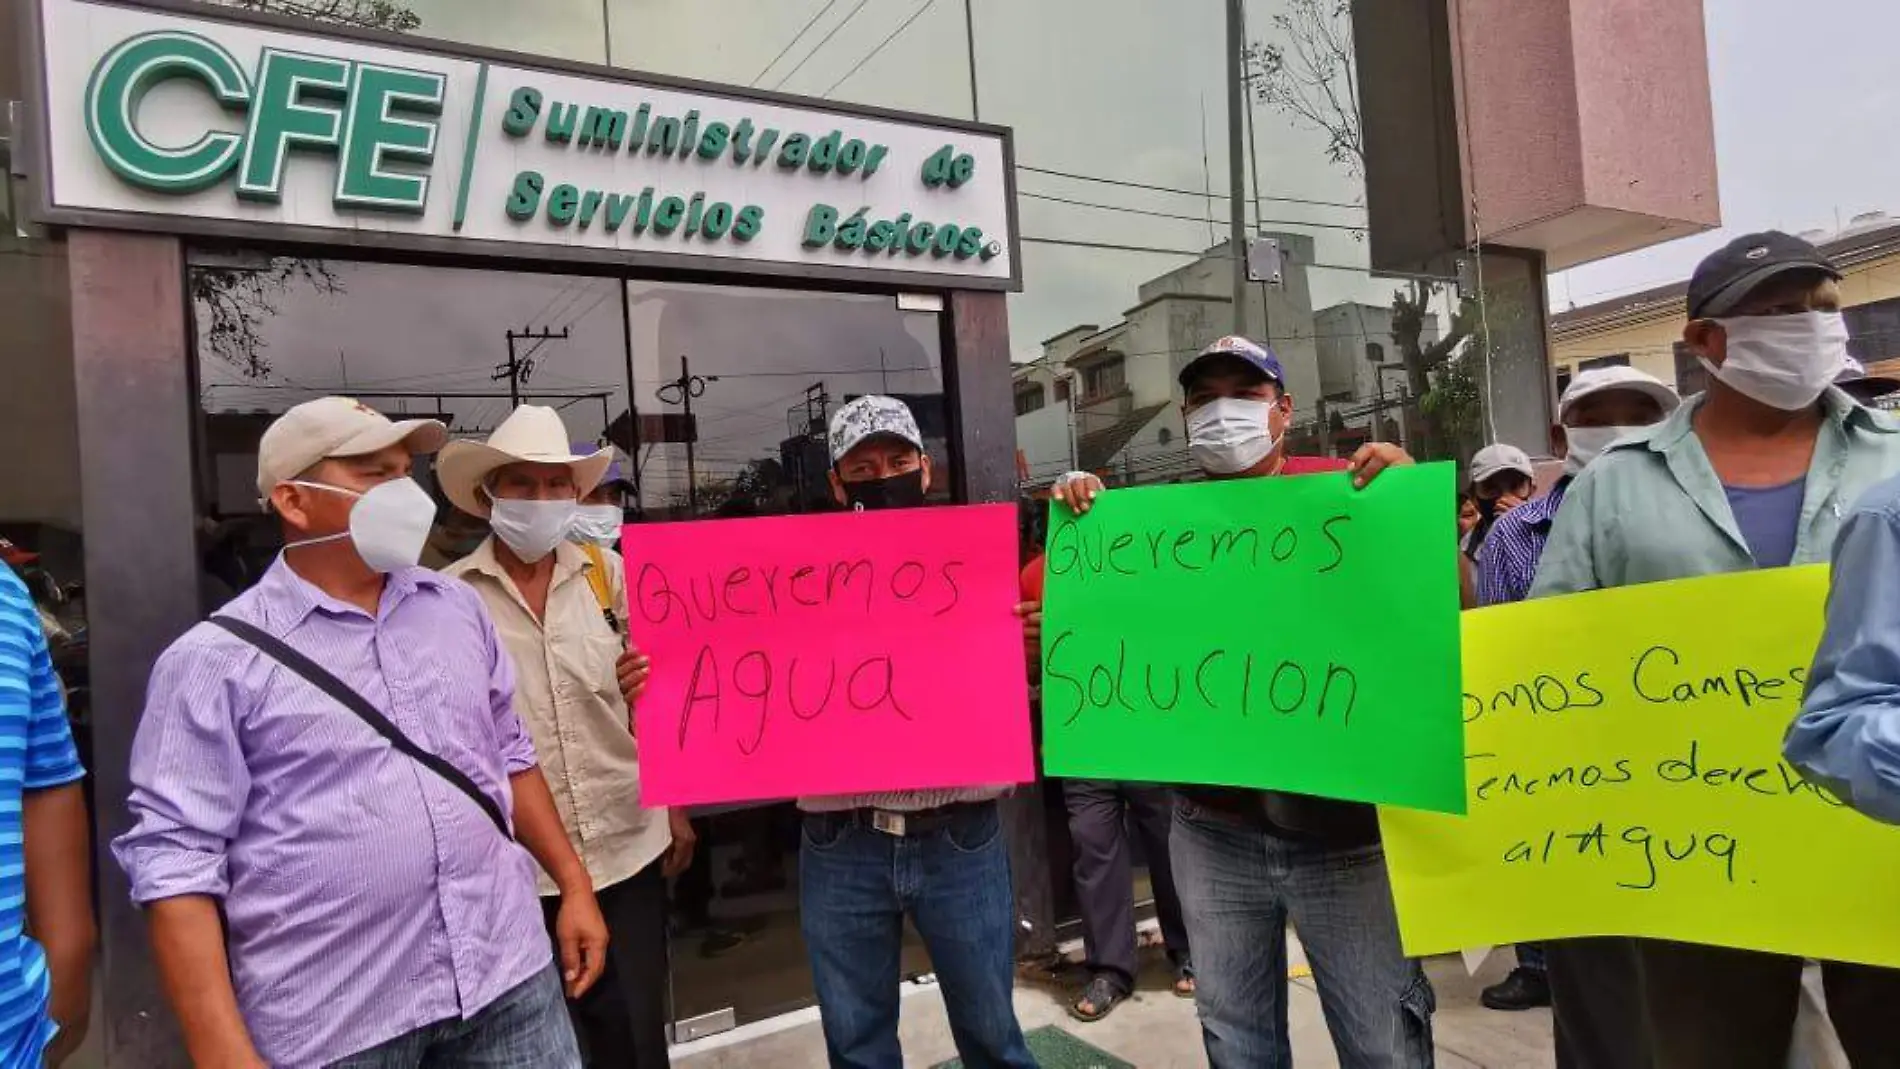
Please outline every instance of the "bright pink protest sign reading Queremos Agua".
M640 801L1036 777L1011 505L629 526Z

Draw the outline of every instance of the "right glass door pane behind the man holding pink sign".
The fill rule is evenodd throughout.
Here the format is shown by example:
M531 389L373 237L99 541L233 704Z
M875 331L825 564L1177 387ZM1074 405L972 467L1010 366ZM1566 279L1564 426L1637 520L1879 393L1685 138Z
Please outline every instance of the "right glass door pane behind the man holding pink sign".
M895 296L627 283L646 522L834 509L825 427L864 393L906 401L950 501L940 321ZM815 1001L798 930L792 799L692 811L694 868L673 889L680 1041ZM929 972L914 932L904 976Z

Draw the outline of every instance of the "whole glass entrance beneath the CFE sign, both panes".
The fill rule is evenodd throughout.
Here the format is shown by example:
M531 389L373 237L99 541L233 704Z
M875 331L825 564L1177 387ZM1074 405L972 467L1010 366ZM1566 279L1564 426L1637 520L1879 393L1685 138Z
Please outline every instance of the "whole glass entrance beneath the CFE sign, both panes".
M802 292L418 268L196 249L203 600L262 575L281 539L256 501L256 442L281 412L348 395L486 437L521 403L606 442L646 522L834 509L826 422L864 393L910 403L952 499L942 317L895 294ZM929 304L929 302L920 302ZM428 461L418 480L435 492ZM483 524L437 496L424 564ZM673 887L673 1003L737 1022L813 1001L798 930L790 801L694 809L699 851ZM906 976L929 972L912 936Z

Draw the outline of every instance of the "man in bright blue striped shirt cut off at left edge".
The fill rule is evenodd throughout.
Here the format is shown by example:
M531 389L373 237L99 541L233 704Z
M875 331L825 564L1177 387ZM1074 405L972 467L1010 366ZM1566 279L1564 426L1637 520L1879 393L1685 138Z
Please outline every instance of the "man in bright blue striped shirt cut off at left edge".
M86 1035L84 775L40 613L19 575L0 568L0 1069L59 1065Z

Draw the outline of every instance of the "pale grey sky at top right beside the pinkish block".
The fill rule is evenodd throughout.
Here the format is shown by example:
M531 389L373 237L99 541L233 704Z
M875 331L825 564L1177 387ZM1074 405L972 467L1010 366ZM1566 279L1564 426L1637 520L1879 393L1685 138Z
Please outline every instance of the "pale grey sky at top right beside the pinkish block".
M1550 309L1689 277L1756 230L1834 230L1900 215L1894 0L1704 0L1723 226L1550 277Z

